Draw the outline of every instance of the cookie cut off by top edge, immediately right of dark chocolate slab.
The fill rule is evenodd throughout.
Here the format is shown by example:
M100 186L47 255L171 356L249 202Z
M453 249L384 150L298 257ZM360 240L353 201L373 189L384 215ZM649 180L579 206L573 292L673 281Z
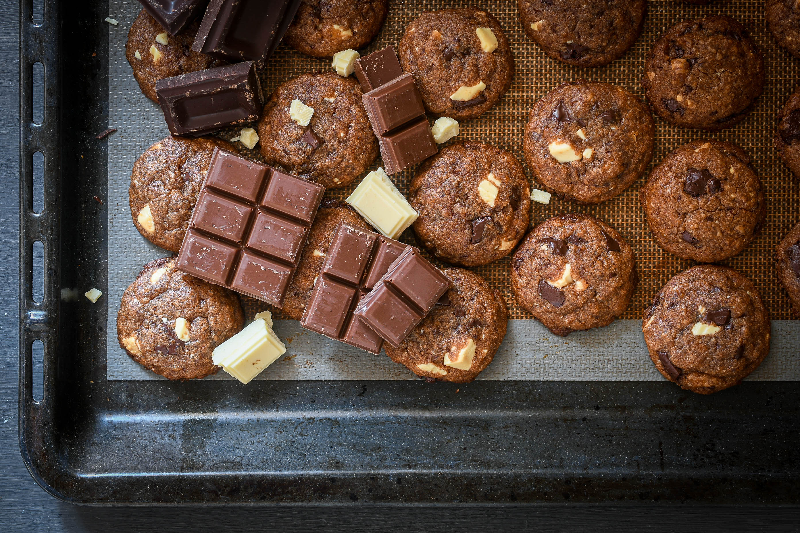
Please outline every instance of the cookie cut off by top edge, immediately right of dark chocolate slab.
M284 40L302 54L330 57L366 46L388 12L389 0L302 0Z

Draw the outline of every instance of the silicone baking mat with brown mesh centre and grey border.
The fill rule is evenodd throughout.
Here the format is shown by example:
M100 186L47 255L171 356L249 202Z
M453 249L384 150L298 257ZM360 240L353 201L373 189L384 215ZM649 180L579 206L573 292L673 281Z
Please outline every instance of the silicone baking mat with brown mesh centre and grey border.
M362 55L384 46L397 46L409 22L423 10L469 6L470 2L414 2L390 0L390 12L378 38ZM514 153L524 164L522 132L527 113L538 98L562 82L586 78L623 86L644 98L639 77L647 51L655 39L677 22L709 14L727 14L742 22L764 54L766 86L755 108L742 123L718 133L704 133L668 125L656 117L656 144L650 169L671 150L698 138L732 141L742 146L753 160L766 190L768 216L764 229L748 249L723 264L738 269L754 281L773 320L773 343L770 355L750 380L800 380L796 359L800 346L800 320L791 320L790 303L778 284L774 268L774 249L782 236L800 219L798 184L779 160L772 145L775 115L794 89L800 73L800 60L775 45L766 30L762 0L726 2L717 0L708 6L691 6L678 0L648 2L644 30L634 46L608 66L583 69L568 66L547 56L528 39L519 22L517 2L488 0L480 4L498 19L510 40L516 62L516 74L509 91L498 105L472 121L461 124L454 140L475 139L489 142ZM137 276L142 265L167 253L150 245L135 229L128 207L130 170L137 157L152 143L168 134L158 105L144 97L134 81L125 58L127 31L141 5L135 0L110 0L109 15L119 26L109 28L109 127L118 132L109 137L109 285L108 298L108 370L110 380L162 379L145 370L119 348L116 317L122 292ZM279 83L306 72L332 70L330 60L309 58L281 45L262 70L264 93ZM237 132L223 132L230 139ZM238 145L242 153L260 158L255 151ZM381 161L375 161L377 168ZM648 172L649 170L648 169ZM531 185L534 176L526 169ZM414 169L396 174L393 179L403 193ZM650 236L639 205L639 189L646 176L625 193L600 205L576 205L554 199L550 205L533 203L530 221L539 224L563 211L588 213L613 225L634 247L639 284L622 320L606 328L575 332L567 337L553 336L530 314L518 307L509 283L509 258L474 268L491 285L500 289L509 305L509 331L501 348L478 380L661 380L650 363L642 338L640 317L653 294L674 274L694 265L662 251ZM358 181L345 189L329 191L330 197L344 198ZM403 241L414 243L414 233L407 231ZM266 304L242 297L246 315L268 308ZM280 312L274 312L276 319ZM263 380L404 380L414 375L386 356L374 356L356 348L328 340L299 327L294 320L276 320L278 336L286 341L286 356L276 361L258 379ZM206 379L231 379L225 372Z

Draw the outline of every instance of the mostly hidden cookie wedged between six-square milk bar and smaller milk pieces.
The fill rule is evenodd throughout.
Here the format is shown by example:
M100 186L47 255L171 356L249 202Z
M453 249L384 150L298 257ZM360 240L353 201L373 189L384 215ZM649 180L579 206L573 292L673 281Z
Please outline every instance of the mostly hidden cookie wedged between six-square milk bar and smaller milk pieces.
M319 276L322 262L325 261L323 254L327 253L339 222L370 229L370 225L345 202L330 198L322 201L317 217L314 218L314 224L311 225L306 245L303 247L298 269L294 272L289 288L286 289L286 300L281 308L284 314L294 320L302 318L308 296L314 288L314 281Z

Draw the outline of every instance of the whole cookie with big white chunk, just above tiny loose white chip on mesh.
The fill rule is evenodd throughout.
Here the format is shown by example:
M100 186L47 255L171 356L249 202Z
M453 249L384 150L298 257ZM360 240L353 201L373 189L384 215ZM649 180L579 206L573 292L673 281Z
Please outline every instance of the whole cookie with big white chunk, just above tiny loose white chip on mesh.
M617 196L653 157L655 126L637 97L610 83L564 83L530 109L525 160L550 193L581 204Z

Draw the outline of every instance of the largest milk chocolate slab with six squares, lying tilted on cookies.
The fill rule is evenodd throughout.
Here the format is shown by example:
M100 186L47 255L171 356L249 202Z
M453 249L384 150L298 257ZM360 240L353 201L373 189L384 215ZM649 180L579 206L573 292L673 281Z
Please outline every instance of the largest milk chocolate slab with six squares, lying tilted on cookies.
M215 148L176 268L280 308L323 193Z

